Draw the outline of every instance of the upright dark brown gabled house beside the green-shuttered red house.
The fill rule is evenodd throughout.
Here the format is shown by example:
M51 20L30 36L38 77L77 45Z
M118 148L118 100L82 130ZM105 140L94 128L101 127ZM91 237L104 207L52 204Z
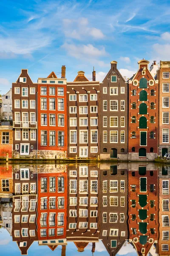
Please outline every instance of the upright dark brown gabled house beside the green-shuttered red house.
M100 159L127 160L128 86L117 62L100 83Z

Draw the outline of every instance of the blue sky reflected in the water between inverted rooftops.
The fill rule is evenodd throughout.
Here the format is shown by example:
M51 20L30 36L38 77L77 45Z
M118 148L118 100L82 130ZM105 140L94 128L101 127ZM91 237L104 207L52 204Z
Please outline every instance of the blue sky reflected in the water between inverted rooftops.
M39 246L38 242L35 241L31 247L28 249L28 256L34 256L34 255L41 255L41 256L54 256L54 255L61 255L61 246L57 247L54 252L49 249L47 246ZM85 248L85 251L83 253L77 252L77 247L73 242L68 242L68 245L66 247L66 256L92 256L91 253L91 245L88 245ZM59 250L59 252L58 252ZM12 256L20 256L20 249L17 246L17 243L12 241L12 237L8 233L6 229L0 229L0 256L4 255L4 251L6 252L6 255L12 255ZM137 256L135 250L131 245L127 245L127 247L122 248L120 253L117 254L118 256ZM94 256L109 256L107 250L105 249L104 245L102 244L102 241L99 241L99 243L96 243L96 250L94 253Z

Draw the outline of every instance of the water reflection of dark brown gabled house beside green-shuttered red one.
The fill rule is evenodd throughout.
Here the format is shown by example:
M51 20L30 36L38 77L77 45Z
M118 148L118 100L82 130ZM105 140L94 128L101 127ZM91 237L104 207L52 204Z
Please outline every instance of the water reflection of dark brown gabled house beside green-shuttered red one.
M127 163L100 165L100 236L109 255L116 255L128 239Z

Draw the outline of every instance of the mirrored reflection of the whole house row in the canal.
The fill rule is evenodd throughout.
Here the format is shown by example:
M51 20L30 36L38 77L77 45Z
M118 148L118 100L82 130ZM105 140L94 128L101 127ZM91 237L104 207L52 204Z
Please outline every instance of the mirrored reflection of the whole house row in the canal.
M154 163L0 166L0 225L22 255L34 241L65 256L67 242L91 253L170 254L170 168ZM89 251L88 251L89 252Z

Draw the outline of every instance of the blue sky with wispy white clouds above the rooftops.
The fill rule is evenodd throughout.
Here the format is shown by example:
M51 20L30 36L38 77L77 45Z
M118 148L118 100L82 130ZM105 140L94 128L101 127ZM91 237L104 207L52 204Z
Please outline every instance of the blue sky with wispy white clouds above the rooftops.
M1 0L0 9L1 93L22 68L36 82L66 65L73 81L95 66L102 81L113 60L124 76L142 58L170 60L169 0Z

